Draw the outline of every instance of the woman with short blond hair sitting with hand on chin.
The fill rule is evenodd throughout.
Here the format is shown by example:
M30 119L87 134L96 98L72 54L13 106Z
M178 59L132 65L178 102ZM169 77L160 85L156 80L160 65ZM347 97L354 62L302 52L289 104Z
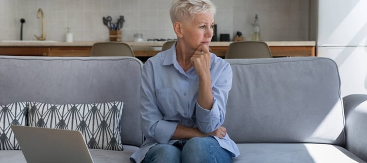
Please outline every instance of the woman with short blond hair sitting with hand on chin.
M174 0L177 42L143 66L140 126L146 138L136 163L231 163L239 155L221 125L231 66L209 52L215 6L210 0Z

